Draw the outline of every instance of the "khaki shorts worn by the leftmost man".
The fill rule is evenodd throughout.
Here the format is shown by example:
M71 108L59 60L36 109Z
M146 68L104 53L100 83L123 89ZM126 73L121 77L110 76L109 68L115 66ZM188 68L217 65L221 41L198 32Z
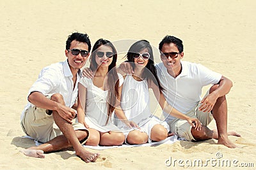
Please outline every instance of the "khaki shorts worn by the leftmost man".
M51 99L52 94L49 94L45 97ZM55 124L51 111L45 110L43 108L38 108L36 106L31 106L28 110L25 111L24 117L20 122L23 131L33 139L40 141L41 143L46 143L57 136L62 135L59 127ZM88 134L88 130L84 127L83 124L75 123L72 124L74 131L84 130ZM89 136L89 135L88 135ZM88 139L88 136L86 139ZM80 143L85 143L86 139L80 141Z

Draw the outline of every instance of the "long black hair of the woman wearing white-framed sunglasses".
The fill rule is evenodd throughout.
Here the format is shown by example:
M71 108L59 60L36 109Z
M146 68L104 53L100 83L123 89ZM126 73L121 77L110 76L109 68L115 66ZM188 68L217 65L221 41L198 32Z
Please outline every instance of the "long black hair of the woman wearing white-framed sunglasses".
M136 55L136 53L140 52L141 50L144 50L145 48L147 48L148 53L150 55L149 59L148 59L148 64L146 66L147 69L143 69L143 73L141 74L141 78L145 79L149 79L152 80L158 87L159 87L159 91L161 93L161 90L163 90L163 87L160 85L159 79L157 77L157 71L156 71L156 67L154 65L154 55L153 55L153 50L152 50L152 46L149 44L149 42L145 39L140 40L140 41L136 41L134 44L132 44L132 46L129 48L129 51L127 53L127 59L130 62L134 62L134 55ZM132 64L132 67L134 68L134 64Z

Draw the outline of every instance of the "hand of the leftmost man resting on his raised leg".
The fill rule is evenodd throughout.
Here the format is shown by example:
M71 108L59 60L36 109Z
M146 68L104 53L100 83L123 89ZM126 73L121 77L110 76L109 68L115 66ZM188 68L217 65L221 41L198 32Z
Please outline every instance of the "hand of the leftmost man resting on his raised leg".
M72 120L76 117L77 111L69 108L67 106L64 106L62 104L59 104L58 110L56 110L59 115L67 120L68 123L72 124Z

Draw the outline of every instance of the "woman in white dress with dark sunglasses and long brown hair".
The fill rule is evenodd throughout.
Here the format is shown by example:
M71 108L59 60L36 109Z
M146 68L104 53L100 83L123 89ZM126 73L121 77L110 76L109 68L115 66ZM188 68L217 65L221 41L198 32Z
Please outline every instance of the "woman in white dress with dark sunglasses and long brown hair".
M90 57L90 69L94 77L84 77L79 82L77 121L88 128L86 145L122 145L125 141L124 134L113 124L112 113L120 106L116 97L120 94L118 87L123 80L116 72L116 59L115 46L106 39L99 39ZM126 123L130 124L129 121Z

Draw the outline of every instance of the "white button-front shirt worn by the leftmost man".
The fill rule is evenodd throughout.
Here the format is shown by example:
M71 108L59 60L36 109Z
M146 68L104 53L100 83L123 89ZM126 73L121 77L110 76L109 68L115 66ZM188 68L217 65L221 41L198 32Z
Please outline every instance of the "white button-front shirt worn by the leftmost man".
M65 105L72 107L76 103L79 83L82 77L81 71L77 73L76 85L73 89L73 75L68 66L68 61L57 62L51 64L50 66L44 67L40 72L38 79L29 89L28 96L31 92L41 92L42 94L55 94L59 93L63 96ZM28 110L29 107L34 106L29 103L26 105L22 111L21 119L24 115L24 111Z

